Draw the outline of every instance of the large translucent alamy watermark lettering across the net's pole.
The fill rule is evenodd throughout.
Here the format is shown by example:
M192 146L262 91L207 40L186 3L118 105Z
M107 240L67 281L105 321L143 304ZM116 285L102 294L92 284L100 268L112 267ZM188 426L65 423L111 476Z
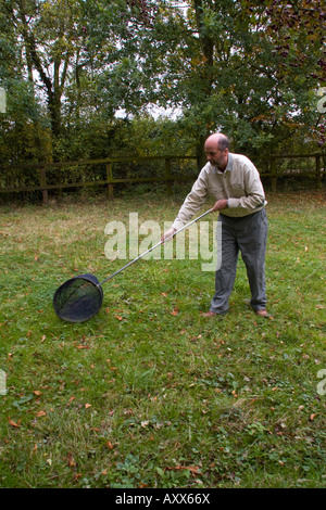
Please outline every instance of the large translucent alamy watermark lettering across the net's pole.
M163 232L171 227L164 222ZM104 233L110 235L104 246L106 258L134 259L160 242L163 234L160 225L147 220L139 225L138 213L129 213L128 228L123 221L109 221ZM186 235L186 232L187 235ZM216 271L222 263L221 221L200 221L177 232L161 246L143 256L145 259L201 259L202 271Z

